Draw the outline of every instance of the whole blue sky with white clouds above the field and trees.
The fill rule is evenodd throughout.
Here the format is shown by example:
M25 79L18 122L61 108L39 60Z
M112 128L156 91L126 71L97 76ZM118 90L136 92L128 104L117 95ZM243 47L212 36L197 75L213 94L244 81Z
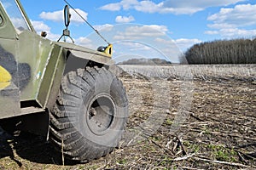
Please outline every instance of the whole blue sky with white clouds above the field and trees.
M36 31L57 40L64 28L64 1L20 0ZM113 43L116 60L160 57L177 62L198 42L256 37L255 0L68 0ZM71 10L71 36L79 45L106 45Z

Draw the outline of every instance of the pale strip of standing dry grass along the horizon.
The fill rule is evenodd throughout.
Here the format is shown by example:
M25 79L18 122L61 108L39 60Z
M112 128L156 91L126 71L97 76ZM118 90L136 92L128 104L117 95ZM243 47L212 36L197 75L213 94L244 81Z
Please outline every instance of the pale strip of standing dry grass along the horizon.
M211 80L219 78L256 79L256 65L119 65L130 75L164 79L190 77Z

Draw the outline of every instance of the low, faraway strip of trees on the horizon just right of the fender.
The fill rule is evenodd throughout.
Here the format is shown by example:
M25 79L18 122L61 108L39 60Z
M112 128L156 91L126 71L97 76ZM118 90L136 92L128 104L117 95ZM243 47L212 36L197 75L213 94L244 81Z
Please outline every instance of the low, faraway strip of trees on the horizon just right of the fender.
M170 61L165 59L128 59L123 62L120 62L119 65L170 65Z

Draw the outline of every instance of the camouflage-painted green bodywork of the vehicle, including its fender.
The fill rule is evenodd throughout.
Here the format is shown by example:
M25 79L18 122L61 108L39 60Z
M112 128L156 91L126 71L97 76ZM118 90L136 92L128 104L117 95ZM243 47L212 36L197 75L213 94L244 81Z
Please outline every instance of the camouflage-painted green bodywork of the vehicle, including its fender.
M111 57L102 52L39 36L20 2L15 2L30 29L17 31L0 3L0 66L3 67L0 71L9 71L12 76L8 87L0 82L4 87L0 88L0 119L26 114L20 111L20 102L35 101L41 108L49 109L55 102L67 65L73 69L85 68L90 61L113 65ZM75 62L78 59L79 64Z

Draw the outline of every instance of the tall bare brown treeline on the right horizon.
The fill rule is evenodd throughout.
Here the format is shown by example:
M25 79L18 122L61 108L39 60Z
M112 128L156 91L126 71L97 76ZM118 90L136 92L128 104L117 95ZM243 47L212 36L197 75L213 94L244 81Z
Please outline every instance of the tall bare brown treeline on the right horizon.
M201 42L184 57L189 64L256 64L256 38ZM180 62L184 63L184 58Z

